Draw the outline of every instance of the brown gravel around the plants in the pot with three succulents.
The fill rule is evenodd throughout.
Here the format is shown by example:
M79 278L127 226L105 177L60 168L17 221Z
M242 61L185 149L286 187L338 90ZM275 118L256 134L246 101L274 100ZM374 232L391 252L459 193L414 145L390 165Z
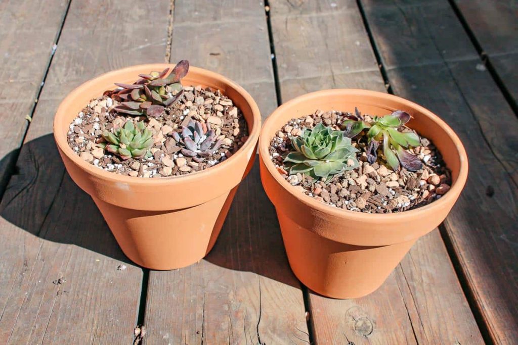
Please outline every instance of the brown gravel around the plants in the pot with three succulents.
M79 157L106 171L135 177L167 177L205 170L231 157L248 139L248 127L241 111L231 99L210 88L184 87L179 101L160 116L146 118L113 114L117 101L109 97L92 99L70 124L67 138ZM171 134L180 131L189 119L215 130L223 144L210 157L184 157ZM152 157L122 160L99 147L105 129L121 127L127 119L143 120L153 133Z

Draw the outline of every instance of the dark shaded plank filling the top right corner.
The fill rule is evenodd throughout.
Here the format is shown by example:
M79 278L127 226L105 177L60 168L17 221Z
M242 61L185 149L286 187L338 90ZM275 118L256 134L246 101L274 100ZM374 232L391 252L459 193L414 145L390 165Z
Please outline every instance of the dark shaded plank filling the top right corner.
M454 0L503 85L518 101L518 5L508 0Z

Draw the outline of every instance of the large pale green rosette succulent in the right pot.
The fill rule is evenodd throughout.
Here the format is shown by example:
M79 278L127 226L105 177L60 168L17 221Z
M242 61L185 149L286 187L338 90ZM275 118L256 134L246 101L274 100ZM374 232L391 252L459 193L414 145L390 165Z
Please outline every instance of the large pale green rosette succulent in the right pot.
M351 139L343 131L325 127L322 123L313 129L306 128L299 137L290 137L293 148L284 162L294 165L290 175L304 173L313 178L329 181L333 175L358 167Z

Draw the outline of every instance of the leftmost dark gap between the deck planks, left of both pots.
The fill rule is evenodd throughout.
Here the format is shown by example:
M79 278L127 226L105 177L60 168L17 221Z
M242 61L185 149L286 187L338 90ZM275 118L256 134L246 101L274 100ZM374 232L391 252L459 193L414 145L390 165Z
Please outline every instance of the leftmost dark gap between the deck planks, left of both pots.
M63 17L61 19L60 28L56 33L56 37L54 38L54 41L52 42L52 52L50 53L50 57L47 62L47 66L45 67L45 72L43 74L43 78L41 79L38 89L36 90L36 95L34 98L33 106L29 110L29 113L27 114L27 116L29 116L31 118L31 120L28 121L28 124L25 127L25 131L23 132L23 136L20 141L20 144L18 145L18 148L13 150L12 157L9 158L9 161L6 164L5 175L2 179L2 181L0 181L0 200L2 200L4 198L5 189L7 188L7 185L9 184L9 181L11 180L11 176L16 173L16 162L18 161L18 157L20 156L21 148L23 146L23 143L25 142L25 138L27 137L27 132L29 130L29 127L31 126L31 122L32 122L32 119L34 116L34 112L36 111L36 107L38 105L38 99L41 95L41 91L43 90L43 87L45 86L45 81L47 80L50 65L52 64L52 59L54 58L54 54L57 50L57 43L59 43L59 40L61 37L61 32L63 31L63 26L65 25L65 20L68 15L68 10L70 9L71 2L72 2L72 0L69 0L66 5L65 11L63 13ZM27 120L25 120L25 121L27 121Z

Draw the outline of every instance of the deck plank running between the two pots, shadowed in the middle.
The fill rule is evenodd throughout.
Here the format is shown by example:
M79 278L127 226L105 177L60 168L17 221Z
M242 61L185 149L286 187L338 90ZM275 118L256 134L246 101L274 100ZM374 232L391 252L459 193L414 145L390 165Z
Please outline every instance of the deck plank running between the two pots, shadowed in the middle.
M276 108L260 2L176 2L171 61L182 58L241 84L263 117ZM257 161L209 255L190 267L150 272L145 324L148 344L309 342L303 293Z

